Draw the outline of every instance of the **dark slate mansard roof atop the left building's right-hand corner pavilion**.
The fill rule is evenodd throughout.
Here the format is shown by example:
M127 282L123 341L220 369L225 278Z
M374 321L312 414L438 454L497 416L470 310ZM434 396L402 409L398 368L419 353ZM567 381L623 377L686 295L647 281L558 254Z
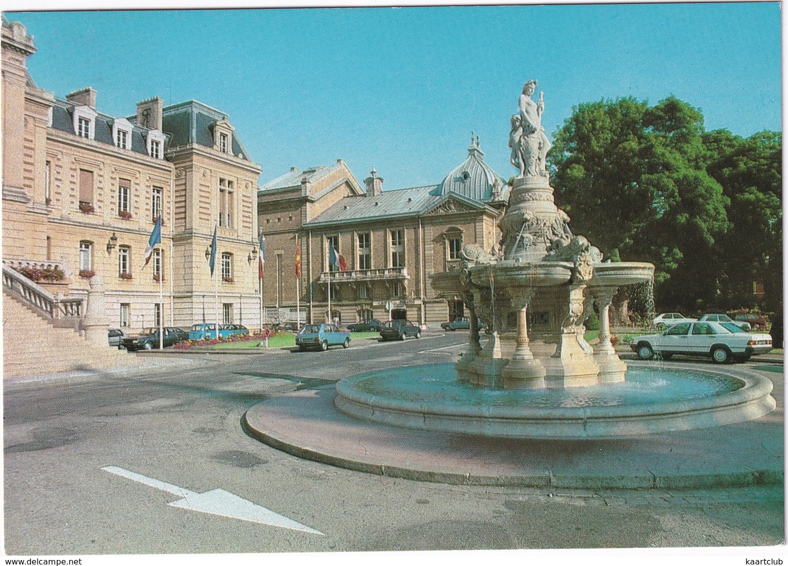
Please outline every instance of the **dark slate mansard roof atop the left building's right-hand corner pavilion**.
M127 120L134 123L136 116L128 117ZM169 135L170 147L187 146L191 143L214 147L214 132L211 126L219 120L227 120L227 115L196 100L180 102L162 109L162 131ZM236 157L241 154L243 159L249 160L243 144L234 131L232 154Z

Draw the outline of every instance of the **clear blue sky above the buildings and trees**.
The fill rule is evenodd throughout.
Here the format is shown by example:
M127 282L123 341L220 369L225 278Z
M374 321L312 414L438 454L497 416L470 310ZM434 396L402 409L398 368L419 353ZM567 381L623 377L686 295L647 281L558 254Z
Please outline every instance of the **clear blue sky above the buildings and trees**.
M572 106L673 94L708 130L781 130L776 2L6 13L35 35L39 87L99 110L158 95L229 114L261 183L295 165L374 165L385 189L439 183L470 132L504 177L523 83L548 135Z

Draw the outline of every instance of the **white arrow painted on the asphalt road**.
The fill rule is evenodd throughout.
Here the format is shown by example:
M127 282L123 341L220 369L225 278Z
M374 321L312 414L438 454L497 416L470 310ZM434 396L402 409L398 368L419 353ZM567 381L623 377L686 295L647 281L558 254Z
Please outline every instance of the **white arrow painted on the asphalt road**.
M253 523L262 523L265 525L272 525L273 527L283 527L285 529L293 529L294 531L304 531L313 533L314 535L324 535L324 533L320 531L315 531L301 523L296 523L296 521L292 519L281 516L270 509L255 505L247 499L231 494L229 491L210 490L206 491L204 494L198 494L195 491L186 490L172 483L162 482L145 475L129 472L117 466L105 466L102 470L112 474L122 475L125 478L155 487L157 490L167 491L171 494L180 496L182 499L167 504L173 507L210 513L211 515L232 517L233 519L251 521Z

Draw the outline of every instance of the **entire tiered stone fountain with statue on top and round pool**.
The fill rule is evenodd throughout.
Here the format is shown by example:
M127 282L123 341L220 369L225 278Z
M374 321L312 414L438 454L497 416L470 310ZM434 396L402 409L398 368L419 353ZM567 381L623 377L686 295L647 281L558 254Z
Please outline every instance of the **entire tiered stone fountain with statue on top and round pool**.
M605 261L556 207L541 127L544 96L529 81L511 117L519 169L495 250L463 248L433 289L470 311L467 351L454 364L357 375L336 385L340 411L433 431L516 438L615 438L711 427L775 408L771 382L654 364L629 370L611 344L608 309L619 287L652 279L644 262ZM585 341L597 306L599 343ZM477 321L485 325L481 346Z

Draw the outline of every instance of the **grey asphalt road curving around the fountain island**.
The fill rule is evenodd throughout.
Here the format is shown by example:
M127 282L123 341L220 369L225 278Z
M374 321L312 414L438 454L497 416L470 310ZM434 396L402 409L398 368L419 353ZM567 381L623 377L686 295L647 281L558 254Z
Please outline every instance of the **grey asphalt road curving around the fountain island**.
M450 361L465 340L457 332L365 341L327 353L214 356L157 374L6 385L6 554L782 543L779 486L556 492L419 483L303 461L241 430L243 412L266 398L377 368ZM199 494L221 488L323 535L167 505L179 496L106 466Z

